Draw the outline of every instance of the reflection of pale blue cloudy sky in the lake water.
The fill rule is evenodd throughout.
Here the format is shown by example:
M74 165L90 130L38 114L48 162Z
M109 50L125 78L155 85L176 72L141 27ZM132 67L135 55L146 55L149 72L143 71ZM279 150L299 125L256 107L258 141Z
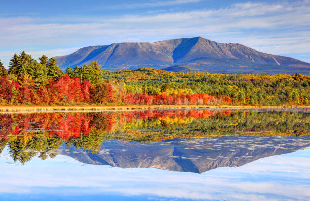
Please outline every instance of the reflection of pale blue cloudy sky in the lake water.
M8 158L8 159L7 159ZM15 164L0 157L0 199L310 199L310 149L202 174L85 165L70 157ZM13 164L14 165L13 165Z

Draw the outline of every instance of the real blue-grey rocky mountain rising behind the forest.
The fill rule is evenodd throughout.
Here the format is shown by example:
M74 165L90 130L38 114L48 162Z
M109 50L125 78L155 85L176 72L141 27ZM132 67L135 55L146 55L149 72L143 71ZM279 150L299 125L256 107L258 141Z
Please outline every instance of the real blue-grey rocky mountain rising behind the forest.
M310 73L309 63L262 53L238 43L217 43L202 37L90 46L55 58L62 69L97 61L105 70L162 69L182 65L212 73Z

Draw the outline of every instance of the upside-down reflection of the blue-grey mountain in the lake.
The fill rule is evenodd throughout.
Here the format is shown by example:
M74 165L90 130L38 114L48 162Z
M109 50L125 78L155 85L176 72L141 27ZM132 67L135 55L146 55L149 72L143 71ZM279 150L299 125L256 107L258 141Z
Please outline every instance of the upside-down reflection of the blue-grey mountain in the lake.
M104 141L97 153L63 146L60 154L82 163L122 168L159 168L202 173L217 167L242 166L263 157L294 152L310 146L302 137L217 137L174 139L153 143Z

